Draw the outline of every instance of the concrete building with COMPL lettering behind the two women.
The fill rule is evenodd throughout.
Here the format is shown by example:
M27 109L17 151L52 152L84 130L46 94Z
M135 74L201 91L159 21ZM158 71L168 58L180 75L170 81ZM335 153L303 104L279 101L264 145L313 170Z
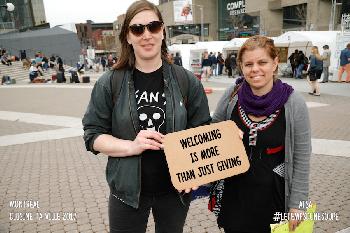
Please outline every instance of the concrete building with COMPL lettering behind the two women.
M346 12L348 3L350 0L160 0L158 8L171 45L257 34L279 36L286 31L340 30L341 12ZM124 17L114 22L117 51Z

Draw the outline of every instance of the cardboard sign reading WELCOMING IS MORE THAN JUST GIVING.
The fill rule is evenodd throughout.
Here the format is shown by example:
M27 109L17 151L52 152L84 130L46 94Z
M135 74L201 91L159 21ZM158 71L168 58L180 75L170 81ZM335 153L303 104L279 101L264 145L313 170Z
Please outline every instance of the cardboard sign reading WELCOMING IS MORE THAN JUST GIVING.
M178 190L238 175L249 169L249 160L233 121L167 134L164 152L171 181Z

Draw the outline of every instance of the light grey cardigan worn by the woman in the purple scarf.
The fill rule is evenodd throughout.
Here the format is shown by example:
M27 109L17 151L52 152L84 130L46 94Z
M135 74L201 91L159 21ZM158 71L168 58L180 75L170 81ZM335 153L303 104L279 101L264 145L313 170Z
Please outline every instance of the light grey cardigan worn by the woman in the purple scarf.
M213 122L231 119L238 96L233 98L234 85L229 87L213 116ZM285 210L299 208L301 201L308 201L311 154L311 128L309 113L302 96L295 91L284 105L286 116L285 138Z

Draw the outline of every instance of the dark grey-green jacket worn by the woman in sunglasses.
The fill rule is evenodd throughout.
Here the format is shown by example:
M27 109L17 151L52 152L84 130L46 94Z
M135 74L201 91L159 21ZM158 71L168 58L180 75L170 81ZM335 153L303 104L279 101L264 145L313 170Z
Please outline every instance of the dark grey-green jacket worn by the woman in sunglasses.
M187 72L187 107L181 90L173 77L171 66L163 62L164 94L166 98L167 133L208 124L211 121L208 100L201 82ZM140 131L133 73L125 72L117 102L113 105L112 72L108 71L96 82L90 103L83 118L84 140L88 151L94 151L95 139L101 134L134 140ZM108 157L106 177L111 193L124 203L137 208L141 191L141 156Z

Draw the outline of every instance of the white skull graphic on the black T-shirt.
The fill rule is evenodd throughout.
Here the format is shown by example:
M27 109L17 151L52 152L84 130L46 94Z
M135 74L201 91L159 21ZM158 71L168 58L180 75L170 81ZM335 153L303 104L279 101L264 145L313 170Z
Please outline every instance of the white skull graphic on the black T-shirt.
M144 105L137 109L139 113L140 128L159 132L164 124L165 113L157 106Z

